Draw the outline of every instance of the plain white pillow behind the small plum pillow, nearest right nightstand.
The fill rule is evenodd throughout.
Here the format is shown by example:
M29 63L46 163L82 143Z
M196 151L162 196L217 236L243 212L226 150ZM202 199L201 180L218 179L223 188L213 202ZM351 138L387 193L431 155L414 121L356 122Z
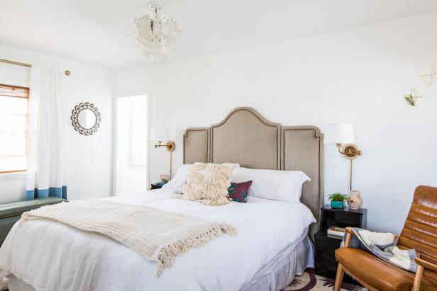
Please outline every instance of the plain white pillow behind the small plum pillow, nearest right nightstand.
M299 202L302 186L311 181L302 171L276 171L238 168L233 170L231 182L252 181L249 195L258 198Z

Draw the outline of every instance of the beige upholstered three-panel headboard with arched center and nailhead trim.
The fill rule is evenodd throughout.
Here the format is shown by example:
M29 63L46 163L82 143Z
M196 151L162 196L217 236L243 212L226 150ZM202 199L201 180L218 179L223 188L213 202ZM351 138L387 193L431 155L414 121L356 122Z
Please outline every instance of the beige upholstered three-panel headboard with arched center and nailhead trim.
M184 133L184 164L238 163L251 169L300 170L311 178L302 190L304 203L317 223L323 205L323 135L315 126L282 126L255 109L240 107L211 127L189 128Z

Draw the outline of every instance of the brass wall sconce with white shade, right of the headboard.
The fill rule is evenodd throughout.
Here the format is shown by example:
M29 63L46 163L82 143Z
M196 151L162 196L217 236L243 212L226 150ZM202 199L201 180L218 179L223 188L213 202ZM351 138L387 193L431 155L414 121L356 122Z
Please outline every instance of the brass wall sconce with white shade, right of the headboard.
M354 142L355 133L352 124L338 123L326 125L324 143L336 144L338 152L350 160L350 191L352 191L352 160L361 155L360 149L358 149Z

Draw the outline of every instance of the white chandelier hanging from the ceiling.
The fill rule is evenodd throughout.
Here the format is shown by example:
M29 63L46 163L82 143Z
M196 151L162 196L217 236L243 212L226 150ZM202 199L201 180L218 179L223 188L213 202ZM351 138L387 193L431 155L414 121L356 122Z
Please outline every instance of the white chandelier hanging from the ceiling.
M145 13L133 20L133 38L143 59L157 64L167 59L182 30L177 28L175 19L161 14L162 3L153 2L148 7L153 11L151 15Z

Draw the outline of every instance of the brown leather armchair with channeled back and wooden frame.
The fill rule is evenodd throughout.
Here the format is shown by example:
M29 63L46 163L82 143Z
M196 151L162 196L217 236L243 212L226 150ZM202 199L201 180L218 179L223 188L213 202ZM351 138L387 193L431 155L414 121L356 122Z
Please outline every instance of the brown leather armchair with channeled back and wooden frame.
M336 285L340 290L345 272L369 290L437 290L437 188L419 186L397 246L416 249L417 273L397 268L362 249L350 249L353 232L346 229L345 248L336 251L338 261Z

